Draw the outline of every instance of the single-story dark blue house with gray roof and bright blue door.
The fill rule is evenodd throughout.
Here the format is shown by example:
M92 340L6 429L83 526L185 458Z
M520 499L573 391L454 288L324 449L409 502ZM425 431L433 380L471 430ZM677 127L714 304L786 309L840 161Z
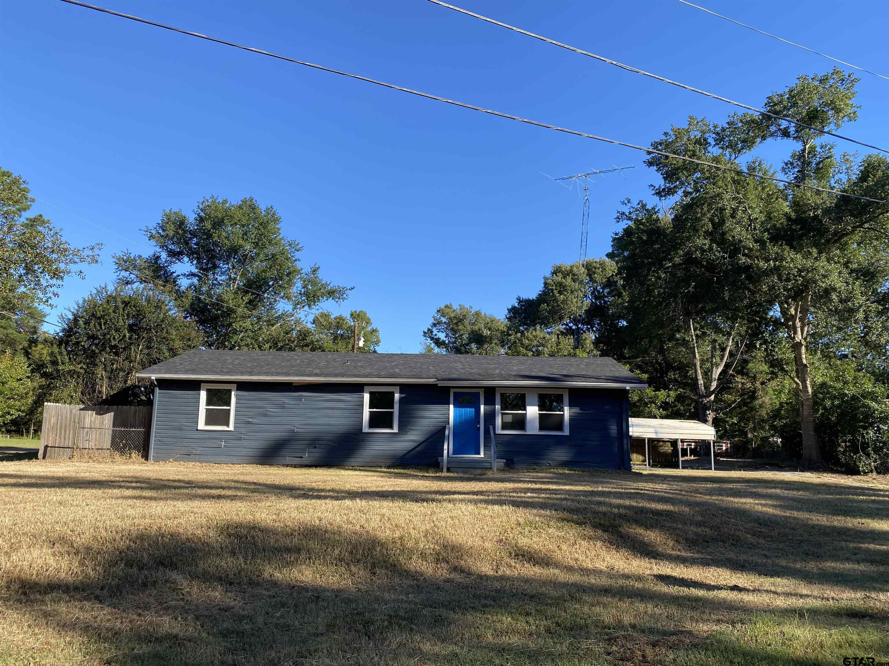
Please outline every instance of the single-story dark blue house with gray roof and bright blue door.
M479 462L629 469L629 391L605 357L197 350L144 369L149 460ZM447 440L445 441L445 432ZM480 466L480 465L478 465Z

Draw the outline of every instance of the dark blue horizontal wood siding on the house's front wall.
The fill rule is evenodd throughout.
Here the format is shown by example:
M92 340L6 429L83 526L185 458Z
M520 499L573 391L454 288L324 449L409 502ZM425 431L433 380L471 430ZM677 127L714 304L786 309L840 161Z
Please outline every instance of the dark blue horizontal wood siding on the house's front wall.
M444 386L400 385L398 432L362 432L363 385L239 382L234 431L200 431L200 384L159 381L154 460L427 465L442 455L451 400ZM500 434L498 457L509 464L629 467L626 403L624 391L571 389L570 435ZM493 424L494 390L487 389L485 455Z

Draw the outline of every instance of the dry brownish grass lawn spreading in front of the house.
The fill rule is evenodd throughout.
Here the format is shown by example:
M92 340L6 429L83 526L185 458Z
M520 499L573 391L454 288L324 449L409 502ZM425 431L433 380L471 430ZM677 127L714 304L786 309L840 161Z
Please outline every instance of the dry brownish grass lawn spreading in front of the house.
M3 664L889 661L889 487L0 466Z

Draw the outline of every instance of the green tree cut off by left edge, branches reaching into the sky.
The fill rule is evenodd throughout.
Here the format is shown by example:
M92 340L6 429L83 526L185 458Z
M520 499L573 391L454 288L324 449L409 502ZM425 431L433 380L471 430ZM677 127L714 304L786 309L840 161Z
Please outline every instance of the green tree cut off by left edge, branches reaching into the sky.
M100 244L72 247L44 216L26 217L33 202L28 181L0 168L0 308L6 317L48 305L68 275L84 277L74 266L99 261Z

